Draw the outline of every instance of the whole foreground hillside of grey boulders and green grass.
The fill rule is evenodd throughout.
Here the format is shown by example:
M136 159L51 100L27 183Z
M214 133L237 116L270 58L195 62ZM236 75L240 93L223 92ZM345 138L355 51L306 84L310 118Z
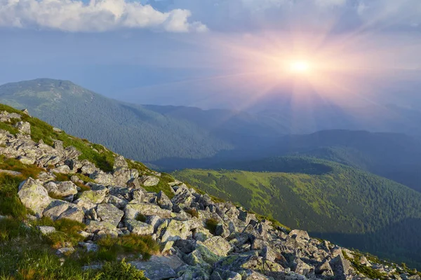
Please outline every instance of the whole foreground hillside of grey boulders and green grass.
M0 110L1 279L420 278Z

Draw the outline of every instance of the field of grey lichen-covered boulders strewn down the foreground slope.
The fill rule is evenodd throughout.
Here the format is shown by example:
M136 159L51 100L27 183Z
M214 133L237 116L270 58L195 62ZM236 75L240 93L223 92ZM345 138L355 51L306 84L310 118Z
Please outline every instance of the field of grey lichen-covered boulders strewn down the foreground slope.
M46 218L83 223L78 232L83 241L56 248L63 261L98 251L107 238L147 235L160 244L156 255L124 256L152 280L420 279L404 266L288 230L119 155L113 154L112 170L101 170L62 141L52 140L53 146L34 141L32 130L38 128L22 118L29 120L22 113L0 113L1 127L9 130L0 130L0 154L40 171L18 188L20 202L32 212L23 221L27 226ZM15 172L1 170L23 175ZM41 225L38 230L53 235L57 229ZM93 261L85 268L101 265Z

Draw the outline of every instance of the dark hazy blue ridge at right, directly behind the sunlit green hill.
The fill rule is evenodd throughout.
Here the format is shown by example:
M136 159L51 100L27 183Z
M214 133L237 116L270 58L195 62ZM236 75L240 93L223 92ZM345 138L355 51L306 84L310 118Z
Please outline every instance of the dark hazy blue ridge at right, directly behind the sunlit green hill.
M328 130L283 137L269 150L275 155L305 155L333 160L421 190L421 140L417 137Z

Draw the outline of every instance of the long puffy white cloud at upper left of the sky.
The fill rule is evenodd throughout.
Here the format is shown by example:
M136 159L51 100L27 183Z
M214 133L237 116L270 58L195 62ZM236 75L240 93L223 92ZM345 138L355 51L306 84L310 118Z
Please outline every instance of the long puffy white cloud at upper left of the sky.
M0 26L63 31L109 31L152 28L171 32L206 31L189 22L189 10L160 12L150 5L126 0L0 0Z

